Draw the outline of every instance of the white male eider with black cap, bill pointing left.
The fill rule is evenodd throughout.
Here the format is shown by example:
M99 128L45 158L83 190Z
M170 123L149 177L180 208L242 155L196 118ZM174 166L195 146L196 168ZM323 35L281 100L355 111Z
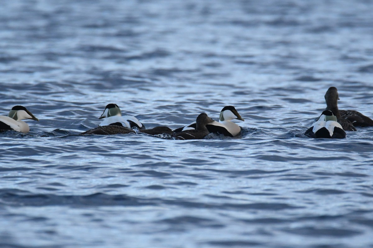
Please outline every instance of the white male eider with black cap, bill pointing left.
M117 104L107 104L104 113L98 118L105 118L99 126L107 126L111 123L121 122L125 124L127 128L137 127L138 129L145 129L145 126L135 116L122 116L120 109Z

